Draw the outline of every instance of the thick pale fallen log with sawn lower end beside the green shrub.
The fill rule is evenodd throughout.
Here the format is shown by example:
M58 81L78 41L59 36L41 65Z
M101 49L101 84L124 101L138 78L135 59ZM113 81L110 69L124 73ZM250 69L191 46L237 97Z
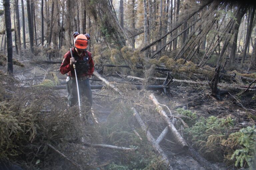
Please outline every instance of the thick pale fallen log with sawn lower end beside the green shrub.
M171 130L171 133L173 134L178 144L181 145L184 150L188 150L187 142L181 137L180 133L174 127L171 120L169 119L163 108L160 106L160 103L158 103L155 96L153 94L150 94L149 98L154 102L157 112L164 118L166 124L168 125L169 129Z

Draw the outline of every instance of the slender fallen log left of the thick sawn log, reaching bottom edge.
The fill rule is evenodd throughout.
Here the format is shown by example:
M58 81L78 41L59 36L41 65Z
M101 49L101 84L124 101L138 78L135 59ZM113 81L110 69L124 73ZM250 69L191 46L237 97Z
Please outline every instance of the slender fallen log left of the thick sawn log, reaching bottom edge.
M156 142L155 138L152 136L152 134L150 133L150 131L148 130L147 126L143 123L140 115L138 114L138 112L135 110L135 108L132 108L133 110L133 116L135 116L137 122L139 123L139 125L141 126L142 130L146 133L146 137L148 139L148 141L151 143L153 149L160 154L162 161L170 166L170 162L166 156L166 154L164 153L163 149L159 146L159 144ZM172 169L172 167L170 166L169 169Z

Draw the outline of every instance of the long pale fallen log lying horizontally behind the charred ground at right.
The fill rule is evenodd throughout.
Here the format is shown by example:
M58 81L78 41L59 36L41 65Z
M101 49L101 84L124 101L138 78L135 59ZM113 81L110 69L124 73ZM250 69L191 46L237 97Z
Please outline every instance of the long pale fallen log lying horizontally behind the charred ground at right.
M137 80L144 80L144 78L140 78L140 77L135 77L135 76L126 76L127 78L134 78L134 79L137 79ZM161 78L161 77L153 77L154 80L165 80L165 78ZM192 81L192 80L179 80L179 79L172 79L174 82L178 82L178 83L187 83L187 84L199 84L199 85L207 85L208 86L208 82L207 81ZM247 87L245 87L244 85L241 85L243 87L240 87L239 86L234 86L232 84L224 84L224 83L218 83L218 86L219 87L223 87L223 88L227 88L227 89L232 89L232 90L235 90L235 89L239 89L239 90L246 90ZM250 90L250 91L256 91L256 89L254 89L255 87L253 88L250 88L250 89L247 89L247 90Z

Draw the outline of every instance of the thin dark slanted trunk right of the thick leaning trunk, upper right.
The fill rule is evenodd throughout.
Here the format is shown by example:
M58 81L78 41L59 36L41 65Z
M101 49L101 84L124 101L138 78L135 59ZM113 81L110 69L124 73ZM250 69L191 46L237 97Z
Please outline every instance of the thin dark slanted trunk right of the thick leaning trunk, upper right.
M249 41L250 41L250 37L251 37L251 34L252 34L252 25L253 25L253 19L254 19L254 14L255 14L255 7L256 7L256 5L254 4L253 7L252 7L249 26L248 26L248 29L247 29L247 34L246 34L246 39L245 39L245 46L244 46L244 53L243 53L243 57L242 57L242 61L241 61L241 66L243 66L243 64L244 64L246 51L247 51L248 44L249 44Z

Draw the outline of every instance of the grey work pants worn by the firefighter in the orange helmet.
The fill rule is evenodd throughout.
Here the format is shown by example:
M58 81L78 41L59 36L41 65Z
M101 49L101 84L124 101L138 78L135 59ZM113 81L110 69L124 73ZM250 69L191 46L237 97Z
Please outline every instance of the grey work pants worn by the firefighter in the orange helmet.
M66 87L68 90L68 105L72 107L78 103L76 79L70 78L68 81L66 81ZM81 109L90 111L92 107L92 91L89 79L78 79L78 88L80 94Z

